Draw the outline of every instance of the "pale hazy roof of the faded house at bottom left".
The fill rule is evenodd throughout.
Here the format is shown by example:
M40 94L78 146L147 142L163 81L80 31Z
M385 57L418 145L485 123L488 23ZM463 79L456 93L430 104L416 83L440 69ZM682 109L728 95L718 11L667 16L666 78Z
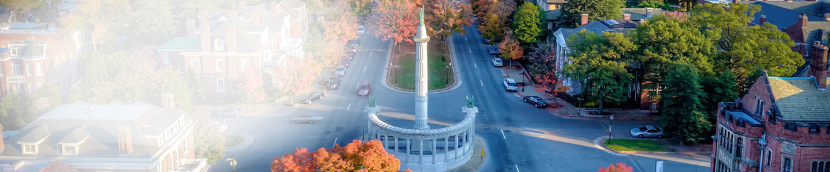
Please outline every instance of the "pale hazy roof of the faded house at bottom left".
M173 125L179 122L177 120L182 120L185 125L179 126L179 130L173 132L173 136L187 136L183 133L190 132L194 122L193 117L186 116L182 110L163 109L140 102L96 105L63 104L37 117L16 135L7 138L0 152L0 158L5 160L18 157L61 157L64 161L74 158L100 158L98 160L152 158L159 154L159 151L164 148L162 146L167 146L159 146L158 141L152 139L153 136L159 136L158 133L173 128ZM129 136L132 140L133 151L129 155L118 154L116 128L122 125L129 126L130 129ZM151 134L155 135L145 133L147 129L154 131L155 133ZM36 155L22 154L19 143L38 140L41 140L41 143ZM58 147L61 144L72 143L80 143L77 147L78 155L63 155L61 151L58 151L61 150Z

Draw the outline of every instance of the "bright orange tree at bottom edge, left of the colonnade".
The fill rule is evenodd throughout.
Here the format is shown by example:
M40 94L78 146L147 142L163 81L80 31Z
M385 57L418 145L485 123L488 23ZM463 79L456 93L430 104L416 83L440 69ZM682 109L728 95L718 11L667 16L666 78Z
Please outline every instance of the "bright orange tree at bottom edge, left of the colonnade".
M298 148L292 153L274 158L271 171L398 171L400 165L400 160L383 150L383 142L354 140L349 145L337 145L330 150L320 148L308 152L305 148Z

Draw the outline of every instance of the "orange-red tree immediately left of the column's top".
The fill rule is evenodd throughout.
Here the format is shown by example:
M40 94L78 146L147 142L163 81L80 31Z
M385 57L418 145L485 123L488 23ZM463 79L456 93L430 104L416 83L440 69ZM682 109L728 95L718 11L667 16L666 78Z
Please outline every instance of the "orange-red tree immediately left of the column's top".
M395 46L403 41L413 42L420 10L417 4L410 0L378 0L377 4L375 11L378 17L374 20L375 31L372 35L381 37L382 41L391 39Z

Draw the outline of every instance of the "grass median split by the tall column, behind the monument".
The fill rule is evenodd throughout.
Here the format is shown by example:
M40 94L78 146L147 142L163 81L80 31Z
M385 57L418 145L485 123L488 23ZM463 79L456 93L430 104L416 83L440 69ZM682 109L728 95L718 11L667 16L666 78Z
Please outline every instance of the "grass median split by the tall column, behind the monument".
M431 47L432 48L432 47ZM433 48L434 49L434 48ZM444 52L440 50L432 50L430 49L427 58L427 69L429 70L427 74L429 74L429 89L441 89L447 88L449 85L447 84L447 66L450 64L451 59L449 56L444 56ZM398 74L395 74L395 69L392 69L392 73L389 75L389 84L395 85L395 77L398 77L398 88L403 89L415 89L415 55L403 55L398 59ZM452 69L449 69L449 84L453 84L455 82L455 75L452 74Z

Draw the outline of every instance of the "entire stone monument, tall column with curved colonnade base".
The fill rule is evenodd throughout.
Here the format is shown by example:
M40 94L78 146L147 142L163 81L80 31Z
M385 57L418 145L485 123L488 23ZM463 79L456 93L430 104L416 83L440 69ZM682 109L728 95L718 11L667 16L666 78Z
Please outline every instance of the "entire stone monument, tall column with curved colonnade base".
M404 123L410 120L393 120L393 126L378 118L380 106L371 98L366 112L369 114L369 132L366 139L383 142L389 154L401 160L401 170L447 171L464 165L474 152L475 124L478 108L467 98L467 105L461 107L463 120L449 127L430 129L427 125L427 29L423 24L421 9L420 24L414 37L416 49L415 125L411 128Z

